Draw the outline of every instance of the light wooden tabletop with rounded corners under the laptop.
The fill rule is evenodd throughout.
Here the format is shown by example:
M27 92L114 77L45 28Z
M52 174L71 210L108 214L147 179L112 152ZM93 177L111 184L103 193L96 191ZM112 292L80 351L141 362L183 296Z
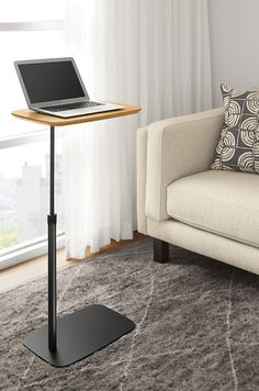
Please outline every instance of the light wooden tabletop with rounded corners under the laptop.
M108 103L113 103L113 102L108 102ZM83 123L83 122L109 120L116 116L136 114L142 110L139 105L132 105L132 104L124 104L124 103L114 103L114 104L123 105L123 109L114 110L114 111L104 111L102 113L95 113L95 114L72 116L69 119L61 119L54 115L37 113L29 109L14 110L12 112L12 115L21 120L32 121L44 125L65 126L65 125Z

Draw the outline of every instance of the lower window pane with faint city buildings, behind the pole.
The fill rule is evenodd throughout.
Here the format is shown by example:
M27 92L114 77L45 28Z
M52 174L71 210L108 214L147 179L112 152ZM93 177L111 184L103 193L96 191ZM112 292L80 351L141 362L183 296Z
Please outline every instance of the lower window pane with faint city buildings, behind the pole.
M1 149L0 249L46 235L49 194L48 149L48 141ZM56 211L60 231L61 144L58 139L55 164Z

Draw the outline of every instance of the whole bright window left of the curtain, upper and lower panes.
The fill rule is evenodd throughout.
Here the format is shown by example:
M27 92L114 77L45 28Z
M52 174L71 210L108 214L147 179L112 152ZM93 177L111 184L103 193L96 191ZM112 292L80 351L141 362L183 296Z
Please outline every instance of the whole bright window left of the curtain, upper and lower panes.
M63 3L9 0L0 13L0 268L13 264L14 253L23 248L29 258L35 243L46 250L49 132L12 118L13 109L26 107L13 62L65 56ZM61 142L56 144L55 186L61 233ZM7 261L9 258L13 259Z

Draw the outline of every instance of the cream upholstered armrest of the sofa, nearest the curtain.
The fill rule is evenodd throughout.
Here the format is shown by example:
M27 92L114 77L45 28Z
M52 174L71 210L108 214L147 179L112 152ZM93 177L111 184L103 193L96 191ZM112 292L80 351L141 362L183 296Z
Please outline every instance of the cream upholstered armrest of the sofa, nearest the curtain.
M210 169L224 122L224 109L155 122L147 131L145 215L169 219L167 187Z

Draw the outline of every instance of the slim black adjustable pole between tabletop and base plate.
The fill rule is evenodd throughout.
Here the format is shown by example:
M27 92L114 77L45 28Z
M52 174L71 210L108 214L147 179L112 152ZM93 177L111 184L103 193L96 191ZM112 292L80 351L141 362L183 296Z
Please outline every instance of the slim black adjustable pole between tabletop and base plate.
M57 281L56 281L56 224L55 214L55 127L50 126L49 156L49 214L48 224L48 348L57 346Z

